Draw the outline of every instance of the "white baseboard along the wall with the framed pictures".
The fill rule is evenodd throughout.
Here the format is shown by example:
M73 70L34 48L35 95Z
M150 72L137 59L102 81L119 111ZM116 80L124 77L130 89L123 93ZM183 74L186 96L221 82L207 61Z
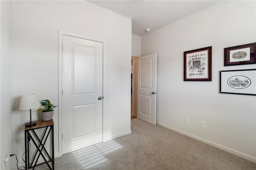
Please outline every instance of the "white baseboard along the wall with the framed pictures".
M208 141L208 140L206 140L206 139L200 138L200 137L195 136L195 135L192 135L192 134L190 134L190 133L186 133L186 132L184 132L184 131L180 131L179 129L170 127L170 126L168 126L168 125L164 125L164 124L159 123L159 122L156 122L156 123L157 123L158 125L162 126L162 127L165 127L165 128L170 129L170 130L172 130L172 131L178 132L178 133L180 133L180 134L182 134L182 135L191 137L191 138L193 138L193 139L196 139L196 140L198 140L198 141L201 141L201 142L203 142L203 143L206 143L206 144L211 145L211 146L213 146L213 147L216 147L216 148L218 148L218 149L224 150L224 151L226 151L226 152L232 153L232 154L234 154L234 155L236 155L236 156L240 156L240 157L242 157L242 158L244 158L244 159L247 159L247 160L250 160L250 161L252 161L252 162L256 162L256 158L253 157L253 156L250 156L250 155L248 155L248 154L244 154L244 153L242 153L242 152L238 152L237 150L230 149L230 148L228 148L228 147L224 147L224 146L219 145L219 144L217 144L217 143L214 143L214 142L212 142L212 141Z

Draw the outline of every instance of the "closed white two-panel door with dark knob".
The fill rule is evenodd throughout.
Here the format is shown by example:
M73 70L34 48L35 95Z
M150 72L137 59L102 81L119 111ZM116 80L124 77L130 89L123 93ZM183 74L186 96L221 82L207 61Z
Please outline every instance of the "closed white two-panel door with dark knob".
M103 44L63 35L63 154L102 142Z

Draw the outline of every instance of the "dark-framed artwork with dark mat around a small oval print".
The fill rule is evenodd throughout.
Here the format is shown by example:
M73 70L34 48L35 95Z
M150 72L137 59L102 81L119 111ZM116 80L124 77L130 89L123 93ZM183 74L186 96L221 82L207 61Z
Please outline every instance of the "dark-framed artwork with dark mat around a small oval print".
M224 66L256 64L256 43L224 48Z

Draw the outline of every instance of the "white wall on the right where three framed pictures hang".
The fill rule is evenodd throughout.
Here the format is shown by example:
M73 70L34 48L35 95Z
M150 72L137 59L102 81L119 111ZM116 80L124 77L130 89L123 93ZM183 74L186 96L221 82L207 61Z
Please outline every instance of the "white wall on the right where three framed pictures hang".
M256 68L224 67L224 48L254 42L255 1L220 2L144 35L142 55L158 53L158 124L256 162L256 97L219 94L219 70ZM208 46L212 81L184 82L183 52Z

